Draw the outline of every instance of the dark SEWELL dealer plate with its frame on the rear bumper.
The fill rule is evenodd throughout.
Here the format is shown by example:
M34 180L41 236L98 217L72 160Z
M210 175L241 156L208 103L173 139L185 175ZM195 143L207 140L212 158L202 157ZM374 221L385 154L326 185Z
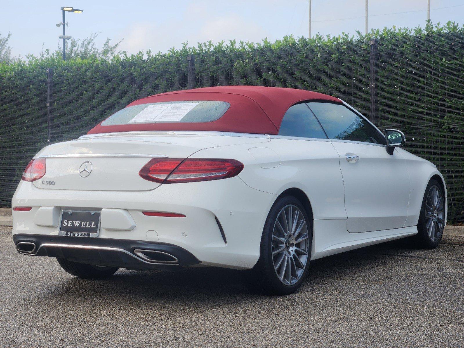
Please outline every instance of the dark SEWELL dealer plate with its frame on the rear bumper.
M71 217L74 213L77 213L77 215L74 215L71 219L65 219L65 221L72 222L71 226L63 226L63 221L64 217L69 218ZM87 216L86 220L83 220L82 218L85 218L87 214L90 214L91 219L89 219L89 216ZM97 214L97 219L95 219L95 214ZM66 236L66 237L84 237L84 238L96 238L98 237L98 234L100 233L100 222L101 222L101 216L102 212L101 211L91 211L91 210L69 210L69 209L64 209L61 211L61 217L59 220L59 225L58 225L58 235L59 236ZM77 216L80 216L80 220L76 219ZM76 226L74 221L79 222L79 226ZM80 226L81 223L85 222L86 226ZM91 224L90 226L89 223ZM93 223L93 224L92 224ZM95 229L95 223L97 223L97 227Z

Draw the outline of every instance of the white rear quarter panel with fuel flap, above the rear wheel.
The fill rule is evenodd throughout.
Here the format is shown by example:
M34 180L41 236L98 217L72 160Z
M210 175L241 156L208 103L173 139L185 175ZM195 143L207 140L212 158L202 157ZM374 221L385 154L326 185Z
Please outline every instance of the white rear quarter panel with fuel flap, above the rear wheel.
M276 198L289 188L299 188L309 198L314 219L347 219L340 158L329 141L272 138L259 147L270 151L256 151L254 144L239 144L207 148L192 157L241 161L245 167L238 176L246 185L273 193ZM259 157L259 153L264 155ZM267 214L270 208L263 210Z

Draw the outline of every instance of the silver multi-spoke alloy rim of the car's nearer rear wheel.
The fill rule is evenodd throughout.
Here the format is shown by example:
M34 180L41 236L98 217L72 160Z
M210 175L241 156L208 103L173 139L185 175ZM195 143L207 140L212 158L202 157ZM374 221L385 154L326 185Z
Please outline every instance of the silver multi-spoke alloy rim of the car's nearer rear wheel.
M303 276L308 257L307 221L297 206L284 206L272 232L272 261L277 277L285 285L295 284Z

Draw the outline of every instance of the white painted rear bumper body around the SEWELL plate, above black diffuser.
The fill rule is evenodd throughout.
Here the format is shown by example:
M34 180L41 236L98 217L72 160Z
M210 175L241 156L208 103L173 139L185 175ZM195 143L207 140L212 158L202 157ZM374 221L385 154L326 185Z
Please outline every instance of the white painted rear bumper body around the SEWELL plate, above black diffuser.
M13 236L54 238L64 210L102 211L97 239L176 245L203 265L249 269L258 261L264 222L276 197L239 177L137 192L39 189L21 181L12 206L32 209L13 211ZM185 217L146 216L144 211Z

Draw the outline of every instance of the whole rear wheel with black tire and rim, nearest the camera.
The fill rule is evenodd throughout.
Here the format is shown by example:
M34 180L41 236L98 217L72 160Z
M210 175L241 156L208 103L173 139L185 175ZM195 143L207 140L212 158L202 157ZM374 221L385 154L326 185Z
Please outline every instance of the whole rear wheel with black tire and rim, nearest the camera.
M291 212L292 226L285 222L282 212L285 216ZM292 228L293 233L284 237L283 230ZM264 295L289 295L298 290L309 269L312 236L312 220L309 220L303 204L293 196L279 198L264 224L258 263L251 270L244 271L251 290Z

